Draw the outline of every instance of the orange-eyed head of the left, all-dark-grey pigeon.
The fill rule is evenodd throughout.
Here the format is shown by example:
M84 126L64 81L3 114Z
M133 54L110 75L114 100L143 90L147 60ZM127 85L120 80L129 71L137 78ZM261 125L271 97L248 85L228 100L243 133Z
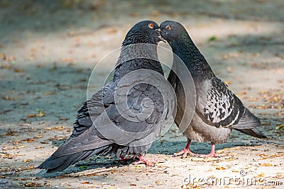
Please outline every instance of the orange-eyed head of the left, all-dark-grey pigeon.
M141 21L136 23L126 34L122 45L137 43L150 43L157 45L160 41L159 25L154 21Z

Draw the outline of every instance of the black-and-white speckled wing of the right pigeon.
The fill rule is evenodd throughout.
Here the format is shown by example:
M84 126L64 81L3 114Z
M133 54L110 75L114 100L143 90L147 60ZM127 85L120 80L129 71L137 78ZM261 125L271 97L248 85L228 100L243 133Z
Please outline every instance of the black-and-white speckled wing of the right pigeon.
M243 103L217 77L204 82L199 94L197 114L209 125L229 127L238 123L244 114Z

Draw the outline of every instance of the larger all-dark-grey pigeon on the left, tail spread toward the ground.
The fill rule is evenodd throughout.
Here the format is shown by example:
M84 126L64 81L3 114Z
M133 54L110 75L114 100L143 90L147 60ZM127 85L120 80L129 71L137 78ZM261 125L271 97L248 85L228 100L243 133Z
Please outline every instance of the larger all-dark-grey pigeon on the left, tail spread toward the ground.
M153 21L141 21L129 30L114 79L84 103L70 138L38 168L53 173L90 156L111 153L121 159L136 156L138 163L150 166L155 163L144 155L175 106L173 88L158 62L159 41L158 24ZM156 79L155 84L149 79Z

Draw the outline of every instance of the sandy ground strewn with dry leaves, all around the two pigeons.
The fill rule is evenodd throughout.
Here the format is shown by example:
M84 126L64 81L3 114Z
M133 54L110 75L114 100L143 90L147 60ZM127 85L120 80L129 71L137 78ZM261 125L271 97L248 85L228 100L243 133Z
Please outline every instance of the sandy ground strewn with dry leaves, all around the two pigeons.
M283 188L284 2L0 1L0 188ZM179 21L269 139L233 132L219 158L173 157L173 125L147 156L155 167L93 157L62 173L36 168L70 136L92 70L138 21ZM166 44L160 44L170 49ZM169 53L160 52L163 62ZM96 91L118 55L97 67ZM279 130L276 129L278 127ZM281 126L280 126L281 127ZM192 143L208 153L208 143Z

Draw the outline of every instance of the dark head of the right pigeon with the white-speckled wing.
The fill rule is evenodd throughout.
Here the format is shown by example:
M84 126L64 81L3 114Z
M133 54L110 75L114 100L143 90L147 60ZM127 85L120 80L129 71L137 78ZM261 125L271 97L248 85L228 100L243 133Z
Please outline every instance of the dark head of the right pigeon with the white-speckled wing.
M163 21L163 23L160 23L160 35L168 41L171 46L175 45L176 42L192 42L187 30L185 30L180 23L175 21Z

